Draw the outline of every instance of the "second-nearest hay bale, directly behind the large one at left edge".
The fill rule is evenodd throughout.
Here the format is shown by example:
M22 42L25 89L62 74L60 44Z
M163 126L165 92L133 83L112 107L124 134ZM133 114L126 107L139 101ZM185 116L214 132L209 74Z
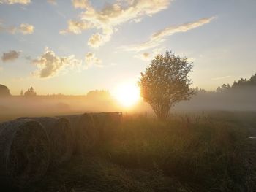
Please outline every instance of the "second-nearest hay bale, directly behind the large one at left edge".
M50 140L51 164L53 166L57 166L65 161L69 161L73 151L73 135L69 120L67 120L67 118L50 117L29 119L37 120L39 123L41 123L48 134Z

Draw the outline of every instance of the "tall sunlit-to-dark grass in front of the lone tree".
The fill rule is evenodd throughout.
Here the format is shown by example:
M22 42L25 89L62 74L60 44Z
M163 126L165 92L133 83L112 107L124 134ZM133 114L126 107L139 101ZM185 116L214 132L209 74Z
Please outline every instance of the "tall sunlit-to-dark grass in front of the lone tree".
M206 117L127 118L102 153L129 169L157 167L197 191L241 191L245 139L243 129Z

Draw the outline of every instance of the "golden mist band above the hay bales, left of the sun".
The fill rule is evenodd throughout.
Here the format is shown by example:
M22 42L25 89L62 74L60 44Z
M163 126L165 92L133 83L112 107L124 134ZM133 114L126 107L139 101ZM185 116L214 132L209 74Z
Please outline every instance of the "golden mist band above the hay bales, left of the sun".
M110 112L118 107L113 99L88 96L9 96L0 98L0 120L26 116L72 115L83 112Z

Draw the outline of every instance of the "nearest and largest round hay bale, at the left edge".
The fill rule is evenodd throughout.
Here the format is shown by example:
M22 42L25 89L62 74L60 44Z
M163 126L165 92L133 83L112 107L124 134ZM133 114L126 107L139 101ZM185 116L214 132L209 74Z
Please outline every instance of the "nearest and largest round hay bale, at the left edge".
M39 180L50 162L48 136L35 120L0 123L0 182L26 186Z

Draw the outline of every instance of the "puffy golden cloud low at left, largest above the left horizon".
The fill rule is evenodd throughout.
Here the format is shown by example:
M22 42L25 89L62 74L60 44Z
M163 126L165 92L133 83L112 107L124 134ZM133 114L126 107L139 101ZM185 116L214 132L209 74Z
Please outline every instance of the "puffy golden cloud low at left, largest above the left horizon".
M47 47L45 53L34 59L32 64L38 68L33 74L40 78L49 78L55 77L60 71L67 71L68 69L74 69L75 66L80 66L81 61L75 59L74 55L59 57Z

